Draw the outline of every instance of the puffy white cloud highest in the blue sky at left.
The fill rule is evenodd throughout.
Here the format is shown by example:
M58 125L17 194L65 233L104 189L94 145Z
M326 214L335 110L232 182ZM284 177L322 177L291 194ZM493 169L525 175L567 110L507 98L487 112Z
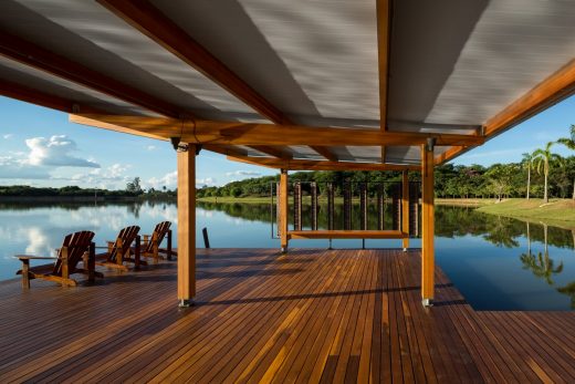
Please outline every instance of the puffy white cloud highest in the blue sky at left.
M72 156L77 145L65 135L28 138L25 145L30 148L28 163L33 166L100 168L97 163Z

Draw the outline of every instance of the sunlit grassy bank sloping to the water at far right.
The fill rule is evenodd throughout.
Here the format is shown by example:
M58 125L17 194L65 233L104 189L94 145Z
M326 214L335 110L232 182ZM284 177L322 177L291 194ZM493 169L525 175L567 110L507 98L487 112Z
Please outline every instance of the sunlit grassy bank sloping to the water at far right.
M545 221L563 228L575 228L575 201L572 199L506 199L478 208L479 211L529 221Z

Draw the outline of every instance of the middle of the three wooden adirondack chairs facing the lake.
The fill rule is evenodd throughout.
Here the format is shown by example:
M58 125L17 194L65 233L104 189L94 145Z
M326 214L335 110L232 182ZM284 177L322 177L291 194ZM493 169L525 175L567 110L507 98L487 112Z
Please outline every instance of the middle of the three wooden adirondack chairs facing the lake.
M138 269L140 264L146 264L139 259L139 227L130 226L123 228L115 241L108 241L107 247L96 247L96 249L106 249L106 252L96 255L96 264L115 268L127 271L124 262L133 262L134 268ZM132 245L135 245L132 247ZM134 257L132 257L134 253Z

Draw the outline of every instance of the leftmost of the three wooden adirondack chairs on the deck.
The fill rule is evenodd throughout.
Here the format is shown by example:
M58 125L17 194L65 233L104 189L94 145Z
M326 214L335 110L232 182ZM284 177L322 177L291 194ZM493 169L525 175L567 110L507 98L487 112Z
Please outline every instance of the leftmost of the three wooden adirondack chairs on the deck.
M74 273L87 274L88 281L94 281L95 277L103 278L101 272L95 271L94 258L94 232L83 230L70 233L64 238L62 248L58 249L58 256L38 257L28 255L15 256L22 261L22 269L17 274L22 274L22 288L30 288L30 280L42 279L55 281L62 287L77 286L76 280L70 276ZM54 260L54 264L30 267L30 260ZM83 268L79 268L80 261L83 261Z

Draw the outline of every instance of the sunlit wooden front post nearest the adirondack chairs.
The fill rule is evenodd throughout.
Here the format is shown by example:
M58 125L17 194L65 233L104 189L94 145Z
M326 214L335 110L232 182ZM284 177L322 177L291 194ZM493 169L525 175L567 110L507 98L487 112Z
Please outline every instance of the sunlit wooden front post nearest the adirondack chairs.
M196 295L196 146L178 152L178 300Z

